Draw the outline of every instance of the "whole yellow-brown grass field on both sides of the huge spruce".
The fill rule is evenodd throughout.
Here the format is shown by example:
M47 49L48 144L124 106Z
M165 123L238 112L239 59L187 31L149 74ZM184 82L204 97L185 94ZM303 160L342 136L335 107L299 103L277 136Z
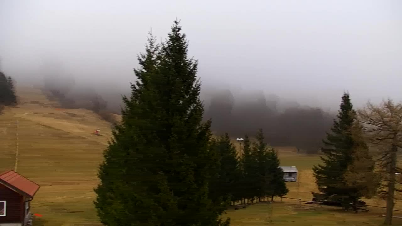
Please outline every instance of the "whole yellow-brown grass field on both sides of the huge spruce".
M14 169L41 188L32 201L35 226L100 226L93 201L93 188L102 153L111 138L110 124L88 110L57 109L38 88L19 87L21 105L0 115L0 172ZM17 123L18 121L18 123ZM93 131L100 129L101 136ZM281 165L297 166L299 183L289 182L288 197L311 199L315 191L311 167L317 155L296 154L292 147L277 147ZM18 154L16 154L18 152ZM297 202L276 199L272 220L275 225L378 225L383 209L353 214ZM383 201L370 203L385 206ZM401 203L396 209L402 209ZM266 225L268 204L258 203L242 210L228 210L232 225ZM395 213L396 215L398 212ZM400 214L402 215L402 214ZM401 221L395 220L395 225Z

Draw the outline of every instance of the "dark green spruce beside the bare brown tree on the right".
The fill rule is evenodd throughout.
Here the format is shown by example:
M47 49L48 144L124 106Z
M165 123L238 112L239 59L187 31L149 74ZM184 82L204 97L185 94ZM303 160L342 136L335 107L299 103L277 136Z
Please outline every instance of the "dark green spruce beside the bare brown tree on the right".
M361 140L356 140L355 125L356 113L353 110L349 92L342 96L340 110L330 133L326 133L326 140L321 151L322 164L313 166L314 177L319 191L326 195L340 195L356 201L361 197L359 186L349 186L345 173L354 162L357 146L366 149Z

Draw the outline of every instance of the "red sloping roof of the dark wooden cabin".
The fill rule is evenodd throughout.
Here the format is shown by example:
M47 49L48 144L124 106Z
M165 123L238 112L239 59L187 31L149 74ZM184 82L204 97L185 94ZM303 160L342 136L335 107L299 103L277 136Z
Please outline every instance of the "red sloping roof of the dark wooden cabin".
M12 170L0 174L0 184L29 197L33 197L40 187Z

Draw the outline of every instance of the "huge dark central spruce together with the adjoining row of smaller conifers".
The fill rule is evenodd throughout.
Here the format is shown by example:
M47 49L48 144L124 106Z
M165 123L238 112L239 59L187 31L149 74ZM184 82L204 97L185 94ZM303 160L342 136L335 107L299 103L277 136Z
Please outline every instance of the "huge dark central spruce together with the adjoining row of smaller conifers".
M137 81L98 172L94 204L105 225L229 225L222 214L231 201L288 191L262 129L256 142L245 136L240 153L228 134L213 136L198 62L187 53L174 21L165 42L150 34L138 55Z

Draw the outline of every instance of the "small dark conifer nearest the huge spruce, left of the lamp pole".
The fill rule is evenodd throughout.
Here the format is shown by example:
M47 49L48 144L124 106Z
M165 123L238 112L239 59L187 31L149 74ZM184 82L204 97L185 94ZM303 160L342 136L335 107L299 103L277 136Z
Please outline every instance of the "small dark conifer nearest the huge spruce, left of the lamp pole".
M228 134L213 139L211 148L216 155L217 168L210 183L209 193L213 200L223 197L224 201L238 201L242 199L240 179L242 172L236 148L230 141ZM227 203L229 204L229 203Z

